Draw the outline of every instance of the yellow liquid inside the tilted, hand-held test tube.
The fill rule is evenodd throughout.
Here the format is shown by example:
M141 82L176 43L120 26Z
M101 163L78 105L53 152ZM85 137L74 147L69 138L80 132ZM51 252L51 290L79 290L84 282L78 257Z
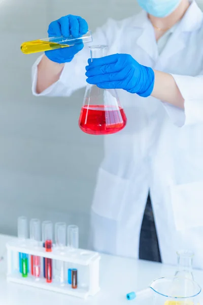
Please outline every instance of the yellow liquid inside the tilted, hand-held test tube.
M59 44L50 41L43 41L38 39L38 40L23 42L20 46L20 49L24 54L31 54L31 53L44 52L44 51L66 48L66 47L69 47L69 45Z

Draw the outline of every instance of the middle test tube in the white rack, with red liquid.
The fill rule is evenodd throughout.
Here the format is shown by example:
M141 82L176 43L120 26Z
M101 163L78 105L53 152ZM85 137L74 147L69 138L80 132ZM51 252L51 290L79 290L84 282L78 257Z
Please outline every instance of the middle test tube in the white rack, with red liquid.
M53 224L51 221L44 221L42 223L43 240L45 241L46 252L52 251L53 239ZM47 283L52 282L52 259L45 258L45 278Z

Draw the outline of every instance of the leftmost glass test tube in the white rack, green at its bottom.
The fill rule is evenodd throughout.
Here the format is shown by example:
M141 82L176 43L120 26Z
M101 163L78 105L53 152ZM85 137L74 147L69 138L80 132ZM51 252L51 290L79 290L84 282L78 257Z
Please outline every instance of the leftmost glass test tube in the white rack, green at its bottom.
M18 239L23 244L28 238L27 218L21 216L18 218ZM27 277L28 270L28 254L19 252L19 271L22 277Z

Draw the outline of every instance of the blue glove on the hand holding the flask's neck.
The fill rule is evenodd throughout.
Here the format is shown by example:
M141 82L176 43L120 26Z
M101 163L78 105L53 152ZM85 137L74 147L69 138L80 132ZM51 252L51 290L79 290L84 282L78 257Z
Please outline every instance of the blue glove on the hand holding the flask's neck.
M88 59L87 82L105 89L124 89L141 97L151 95L154 71L140 65L129 54L114 54Z

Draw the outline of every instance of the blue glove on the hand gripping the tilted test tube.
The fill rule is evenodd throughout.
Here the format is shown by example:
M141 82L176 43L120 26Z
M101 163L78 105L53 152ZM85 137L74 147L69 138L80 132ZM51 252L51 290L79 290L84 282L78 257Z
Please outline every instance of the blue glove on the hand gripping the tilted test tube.
M67 15L51 22L48 28L49 37L69 37L72 35L77 38L80 35L86 34L87 31L87 22L83 18L73 15ZM50 60L52 60L52 62L63 64L71 62L74 55L81 51L82 48L83 43L80 43L72 47L45 51L45 54Z

